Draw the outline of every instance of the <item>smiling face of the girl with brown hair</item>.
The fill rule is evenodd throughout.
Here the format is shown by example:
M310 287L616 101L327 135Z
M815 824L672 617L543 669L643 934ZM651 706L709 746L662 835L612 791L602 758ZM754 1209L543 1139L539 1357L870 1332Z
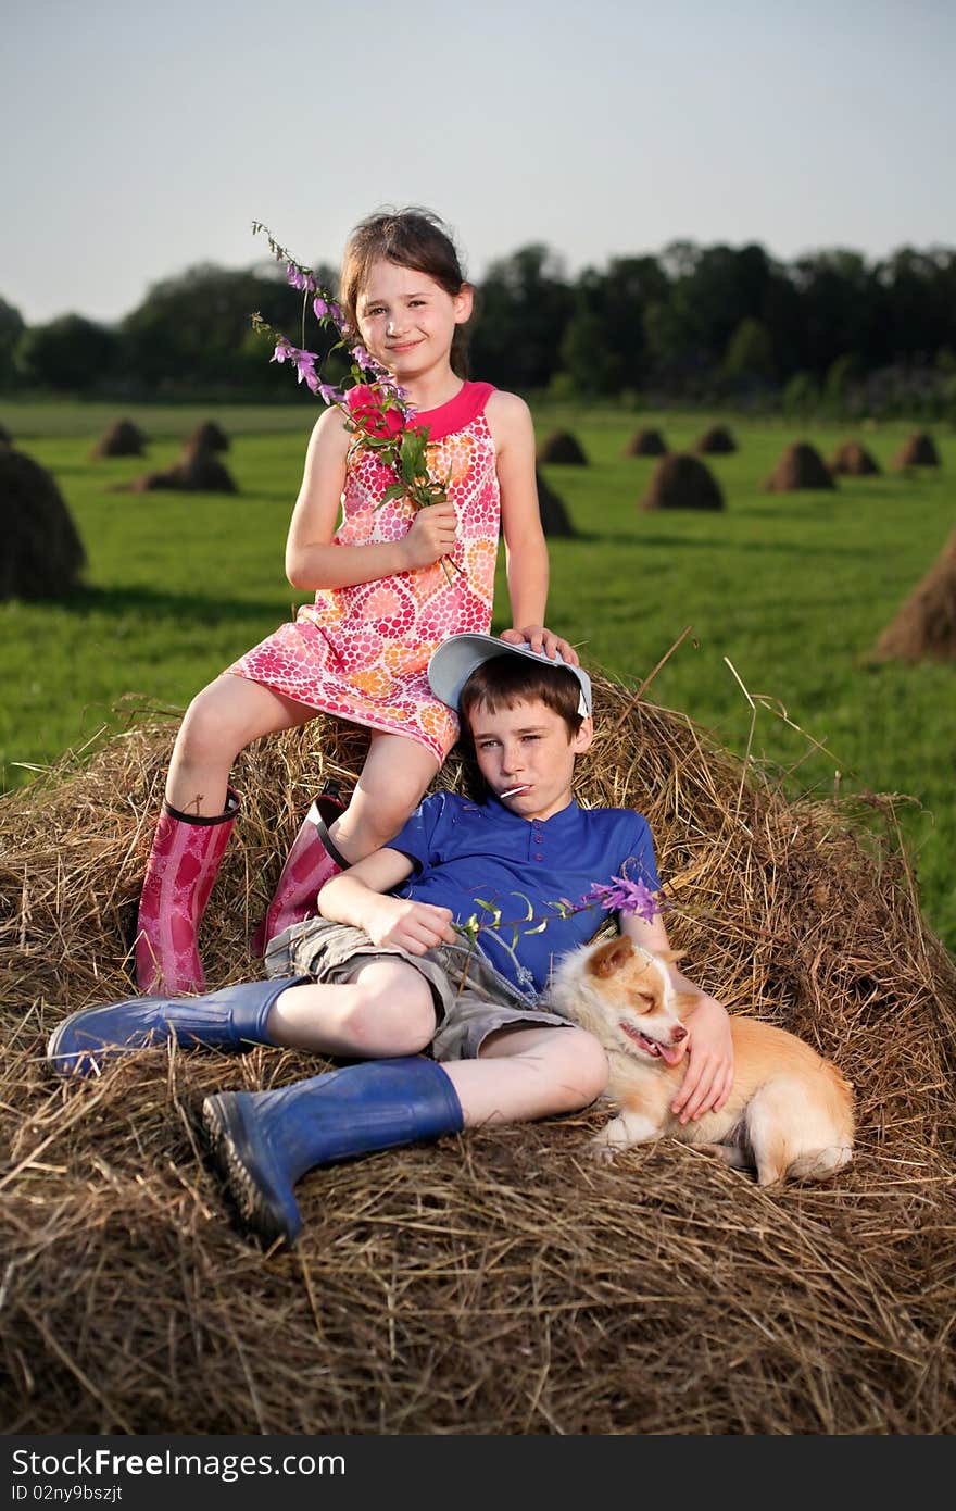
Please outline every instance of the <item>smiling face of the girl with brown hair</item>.
M471 314L471 289L452 296L429 273L376 261L358 299L362 345L402 381L449 367L455 326Z

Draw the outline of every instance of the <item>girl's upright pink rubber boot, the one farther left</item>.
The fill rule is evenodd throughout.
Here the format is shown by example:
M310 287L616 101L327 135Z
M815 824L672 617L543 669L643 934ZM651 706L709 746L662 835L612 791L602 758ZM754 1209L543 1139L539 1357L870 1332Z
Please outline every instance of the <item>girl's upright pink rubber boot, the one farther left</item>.
M146 996L205 991L196 934L237 811L231 787L225 813L214 819L192 817L163 802L136 923L136 984Z

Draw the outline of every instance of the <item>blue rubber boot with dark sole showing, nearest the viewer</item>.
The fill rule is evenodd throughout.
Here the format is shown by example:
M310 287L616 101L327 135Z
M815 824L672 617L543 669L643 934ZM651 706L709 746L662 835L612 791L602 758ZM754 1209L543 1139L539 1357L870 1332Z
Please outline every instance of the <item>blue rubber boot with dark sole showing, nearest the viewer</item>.
M301 1227L299 1176L352 1154L461 1133L458 1092L433 1059L369 1059L279 1091L220 1091L202 1103L210 1151L243 1222L270 1247Z

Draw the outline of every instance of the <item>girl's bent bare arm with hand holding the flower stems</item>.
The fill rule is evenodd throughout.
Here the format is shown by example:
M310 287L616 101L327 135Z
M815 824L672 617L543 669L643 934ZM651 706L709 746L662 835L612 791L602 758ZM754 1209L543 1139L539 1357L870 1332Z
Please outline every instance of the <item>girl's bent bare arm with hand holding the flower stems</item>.
M316 588L376 582L415 567L430 567L455 548L453 505L420 509L400 541L332 544L350 440L337 406L326 409L313 428L285 541L285 576L293 588L314 592Z

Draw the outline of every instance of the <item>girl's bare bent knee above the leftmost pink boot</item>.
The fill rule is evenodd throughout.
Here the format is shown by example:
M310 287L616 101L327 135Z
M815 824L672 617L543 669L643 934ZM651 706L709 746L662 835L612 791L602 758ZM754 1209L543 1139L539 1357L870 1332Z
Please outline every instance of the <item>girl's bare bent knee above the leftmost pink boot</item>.
M304 703L224 672L186 710L169 762L166 802L190 817L222 813L239 752L263 734L295 730L314 716Z

